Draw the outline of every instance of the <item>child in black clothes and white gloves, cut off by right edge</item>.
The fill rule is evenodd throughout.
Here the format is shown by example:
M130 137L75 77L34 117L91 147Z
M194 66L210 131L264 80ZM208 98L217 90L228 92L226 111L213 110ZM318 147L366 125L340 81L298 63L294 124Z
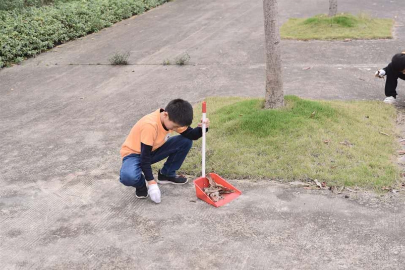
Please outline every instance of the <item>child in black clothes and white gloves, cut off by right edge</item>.
M405 51L395 54L391 62L384 69L376 71L375 77L383 78L387 75L385 82L385 103L393 104L396 99L396 85L398 78L405 80Z

